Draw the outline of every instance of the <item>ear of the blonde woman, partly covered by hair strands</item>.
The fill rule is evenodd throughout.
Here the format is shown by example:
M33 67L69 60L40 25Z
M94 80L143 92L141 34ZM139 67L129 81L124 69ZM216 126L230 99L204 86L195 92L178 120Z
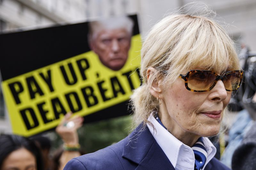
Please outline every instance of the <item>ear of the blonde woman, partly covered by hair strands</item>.
M150 82L150 78L156 73L156 69L153 67L149 67L147 70L147 80ZM158 99L162 99L162 79L161 78L155 78L152 82L152 85L150 85L150 93Z

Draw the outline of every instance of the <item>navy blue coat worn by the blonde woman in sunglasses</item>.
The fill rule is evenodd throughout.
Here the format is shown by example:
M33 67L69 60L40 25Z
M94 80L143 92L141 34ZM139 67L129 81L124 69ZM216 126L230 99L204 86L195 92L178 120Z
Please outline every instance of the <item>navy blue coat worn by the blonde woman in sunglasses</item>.
M64 170L175 170L164 151L157 144L148 127L138 126L128 137L94 153L70 160ZM213 158L205 170L229 170Z

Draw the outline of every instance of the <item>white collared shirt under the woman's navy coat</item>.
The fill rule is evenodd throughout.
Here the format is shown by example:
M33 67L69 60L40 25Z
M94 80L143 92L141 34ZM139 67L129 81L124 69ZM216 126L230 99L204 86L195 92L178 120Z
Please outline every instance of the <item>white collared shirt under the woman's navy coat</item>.
M176 170L194 170L195 154L191 147L183 144L162 125L160 125L160 123L158 123L153 116L153 112L148 117L148 121L154 125L156 130L154 131L153 127L147 124L148 129L156 139L157 144L159 144L167 158L172 163L172 166ZM216 153L216 148L207 137L203 137L203 142L208 155L202 170L204 170L206 164L214 157Z

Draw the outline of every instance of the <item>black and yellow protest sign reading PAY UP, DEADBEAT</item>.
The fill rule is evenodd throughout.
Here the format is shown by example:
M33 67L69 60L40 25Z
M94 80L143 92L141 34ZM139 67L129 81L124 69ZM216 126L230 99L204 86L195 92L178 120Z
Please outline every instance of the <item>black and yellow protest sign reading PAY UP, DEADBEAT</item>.
M134 25L128 56L118 69L91 50L88 22L0 35L2 89L13 133L52 129L69 111L85 122L128 114L127 100L141 83L137 16L129 19ZM122 48L117 43L124 37L104 36L102 42Z

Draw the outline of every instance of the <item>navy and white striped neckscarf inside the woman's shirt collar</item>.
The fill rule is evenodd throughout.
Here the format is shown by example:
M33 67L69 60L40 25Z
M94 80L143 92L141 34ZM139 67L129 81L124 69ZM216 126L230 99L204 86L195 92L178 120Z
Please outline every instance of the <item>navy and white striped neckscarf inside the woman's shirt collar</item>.
M155 114L155 118L157 122L164 127L164 129L170 132L167 128L165 128L161 120L158 118L157 113ZM191 148L195 154L195 170L202 170L208 155L204 147L203 137L199 137L197 142Z

